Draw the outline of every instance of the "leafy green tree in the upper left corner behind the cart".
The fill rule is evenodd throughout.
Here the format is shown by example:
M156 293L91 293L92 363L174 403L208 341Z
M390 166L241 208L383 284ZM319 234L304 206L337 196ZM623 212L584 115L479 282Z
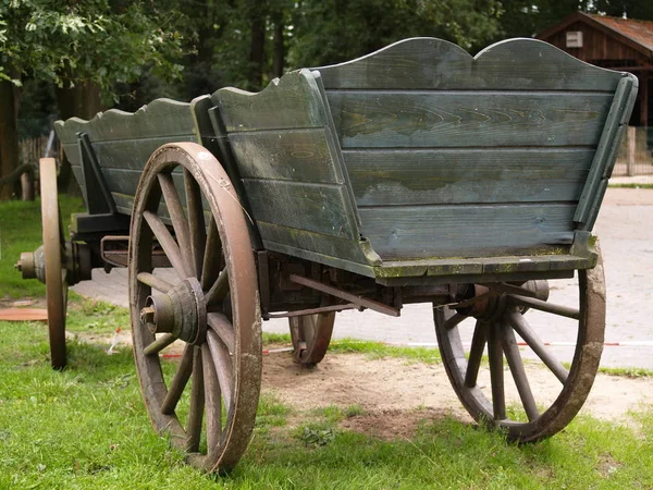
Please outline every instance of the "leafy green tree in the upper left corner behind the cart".
M19 163L15 87L23 77L57 85L62 118L90 118L102 101L116 98L119 83L133 82L147 70L168 78L181 75L182 66L174 62L183 53L180 16L155 12L152 5L126 0L0 3L0 176Z

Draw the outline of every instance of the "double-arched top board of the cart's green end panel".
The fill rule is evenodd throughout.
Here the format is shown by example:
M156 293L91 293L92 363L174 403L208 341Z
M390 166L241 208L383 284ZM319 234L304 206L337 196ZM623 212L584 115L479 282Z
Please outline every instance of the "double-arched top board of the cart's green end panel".
M406 39L367 57L321 66L326 90L528 89L614 91L620 75L587 64L535 39L508 39L476 58L434 38Z

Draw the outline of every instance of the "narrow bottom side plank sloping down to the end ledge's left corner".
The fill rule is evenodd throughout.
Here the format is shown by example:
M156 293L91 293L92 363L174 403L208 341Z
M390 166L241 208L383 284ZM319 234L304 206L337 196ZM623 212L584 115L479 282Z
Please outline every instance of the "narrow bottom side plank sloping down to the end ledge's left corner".
M377 266L381 258L373 253L369 243L358 240L324 235L307 230L280 226L279 224L257 221L261 237L268 242L287 244L316 254L335 257L347 261Z

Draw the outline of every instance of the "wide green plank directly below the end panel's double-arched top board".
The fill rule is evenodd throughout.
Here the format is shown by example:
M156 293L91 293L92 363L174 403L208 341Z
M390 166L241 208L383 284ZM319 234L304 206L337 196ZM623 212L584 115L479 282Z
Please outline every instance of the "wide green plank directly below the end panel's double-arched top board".
M565 146L599 143L609 94L330 91L341 145Z

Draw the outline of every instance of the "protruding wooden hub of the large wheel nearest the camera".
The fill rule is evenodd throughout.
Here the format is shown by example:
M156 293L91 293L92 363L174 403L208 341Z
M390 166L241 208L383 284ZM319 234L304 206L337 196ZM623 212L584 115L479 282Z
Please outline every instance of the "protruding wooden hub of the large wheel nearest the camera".
M140 321L151 333L171 333L200 345L207 334L207 307L199 281L187 278L168 293L153 293L145 301Z

